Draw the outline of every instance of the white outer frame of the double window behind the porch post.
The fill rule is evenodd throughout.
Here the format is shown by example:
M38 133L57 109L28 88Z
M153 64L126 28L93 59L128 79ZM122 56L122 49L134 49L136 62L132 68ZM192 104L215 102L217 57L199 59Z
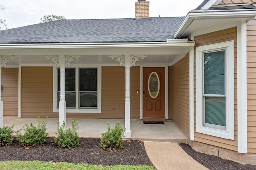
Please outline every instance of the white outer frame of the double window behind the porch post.
M66 108L66 113L101 113L101 66L76 65L76 108ZM97 108L79 108L79 68L97 68ZM58 113L58 67L53 67L53 112Z

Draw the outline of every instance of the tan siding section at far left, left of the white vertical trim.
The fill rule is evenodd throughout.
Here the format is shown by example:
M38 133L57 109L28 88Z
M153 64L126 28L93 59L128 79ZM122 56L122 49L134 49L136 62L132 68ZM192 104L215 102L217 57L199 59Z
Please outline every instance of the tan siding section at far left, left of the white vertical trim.
M18 68L2 68L4 116L18 116Z

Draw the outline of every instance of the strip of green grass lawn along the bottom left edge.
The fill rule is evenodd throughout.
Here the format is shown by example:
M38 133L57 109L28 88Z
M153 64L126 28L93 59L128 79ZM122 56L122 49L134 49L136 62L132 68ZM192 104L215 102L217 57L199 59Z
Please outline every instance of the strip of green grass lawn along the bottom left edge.
M66 162L7 161L0 162L0 170L155 170L154 166L97 166Z

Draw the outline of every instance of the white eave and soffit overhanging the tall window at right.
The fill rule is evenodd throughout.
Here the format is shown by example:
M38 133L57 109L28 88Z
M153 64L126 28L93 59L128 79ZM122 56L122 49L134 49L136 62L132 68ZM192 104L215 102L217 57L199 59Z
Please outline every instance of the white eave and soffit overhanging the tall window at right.
M250 20L256 16L256 10L200 10L190 11L174 34L176 38L188 37L191 33L232 25L236 22Z

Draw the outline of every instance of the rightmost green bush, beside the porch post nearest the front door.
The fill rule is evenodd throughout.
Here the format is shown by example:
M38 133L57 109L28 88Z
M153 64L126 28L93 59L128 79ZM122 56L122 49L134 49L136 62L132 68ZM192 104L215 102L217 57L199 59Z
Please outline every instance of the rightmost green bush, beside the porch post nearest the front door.
M108 124L108 131L102 133L102 139L100 139L100 147L102 149L112 150L113 148L116 149L123 149L124 148L124 140L122 137L124 136L124 128L120 125L120 121L116 122L115 128L110 130L110 125Z

